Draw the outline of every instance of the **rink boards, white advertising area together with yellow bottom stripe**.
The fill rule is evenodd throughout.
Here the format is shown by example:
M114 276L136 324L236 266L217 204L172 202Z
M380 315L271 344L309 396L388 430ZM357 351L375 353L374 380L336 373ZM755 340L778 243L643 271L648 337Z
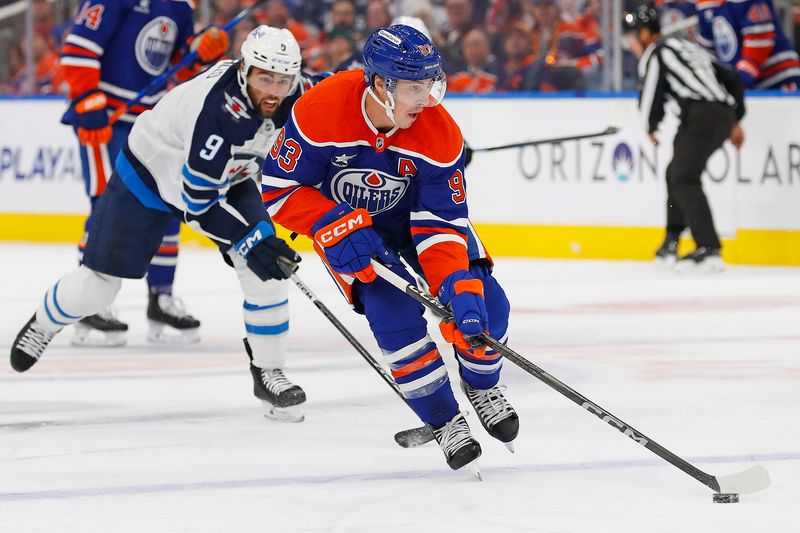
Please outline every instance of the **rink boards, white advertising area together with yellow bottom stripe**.
M800 96L747 100L747 140L712 157L704 186L726 260L800 264ZM653 147L632 95L448 97L474 148L599 132L613 136L476 153L470 213L496 256L650 259L663 235L675 120ZM62 101L0 99L0 240L74 242L88 202ZM190 230L184 239L202 244ZM299 247L306 246L302 243Z

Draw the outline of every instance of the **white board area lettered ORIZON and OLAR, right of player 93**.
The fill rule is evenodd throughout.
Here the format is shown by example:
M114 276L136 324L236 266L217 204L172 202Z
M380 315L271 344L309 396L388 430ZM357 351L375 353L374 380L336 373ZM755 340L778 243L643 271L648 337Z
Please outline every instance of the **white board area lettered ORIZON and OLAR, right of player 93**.
M726 142L724 151L712 157L704 184L723 234L740 228L800 228L798 102L794 97L748 98L742 152ZM664 175L672 156L674 118L665 121L661 146L655 149L630 98L457 98L447 106L476 148L622 128L609 137L476 154L467 172L476 221L664 224ZM476 200L487 197L493 201Z

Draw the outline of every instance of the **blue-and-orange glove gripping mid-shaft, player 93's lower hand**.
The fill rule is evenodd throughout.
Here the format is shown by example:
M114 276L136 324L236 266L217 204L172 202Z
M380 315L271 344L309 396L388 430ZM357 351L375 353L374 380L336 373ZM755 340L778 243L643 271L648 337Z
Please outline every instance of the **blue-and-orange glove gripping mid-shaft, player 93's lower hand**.
M455 322L444 320L439 324L444 339L462 350L473 350L475 357L483 357L486 347L476 338L489 329L483 282L466 270L456 270L444 278L439 288L439 301L453 310L455 319Z

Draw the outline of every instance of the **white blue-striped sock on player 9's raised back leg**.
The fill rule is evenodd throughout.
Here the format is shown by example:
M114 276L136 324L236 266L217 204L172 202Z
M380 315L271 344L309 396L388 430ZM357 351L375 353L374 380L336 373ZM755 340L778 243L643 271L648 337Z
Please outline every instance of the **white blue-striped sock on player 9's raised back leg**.
M36 311L36 322L46 331L60 331L105 309L121 286L122 279L81 265L47 290Z

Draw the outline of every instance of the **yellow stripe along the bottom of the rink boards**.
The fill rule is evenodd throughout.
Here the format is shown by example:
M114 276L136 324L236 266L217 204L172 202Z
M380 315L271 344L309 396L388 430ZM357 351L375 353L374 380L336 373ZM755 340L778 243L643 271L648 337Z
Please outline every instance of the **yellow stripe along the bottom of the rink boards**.
M84 220L82 215L0 213L0 240L77 243ZM663 228L476 224L475 229L494 257L649 261L664 238ZM289 240L283 228L278 236ZM181 243L213 246L186 225ZM292 247L308 251L311 243L299 237ZM691 248L690 239L681 240L681 253ZM732 264L800 265L800 231L740 229L736 238L723 240L722 255Z

